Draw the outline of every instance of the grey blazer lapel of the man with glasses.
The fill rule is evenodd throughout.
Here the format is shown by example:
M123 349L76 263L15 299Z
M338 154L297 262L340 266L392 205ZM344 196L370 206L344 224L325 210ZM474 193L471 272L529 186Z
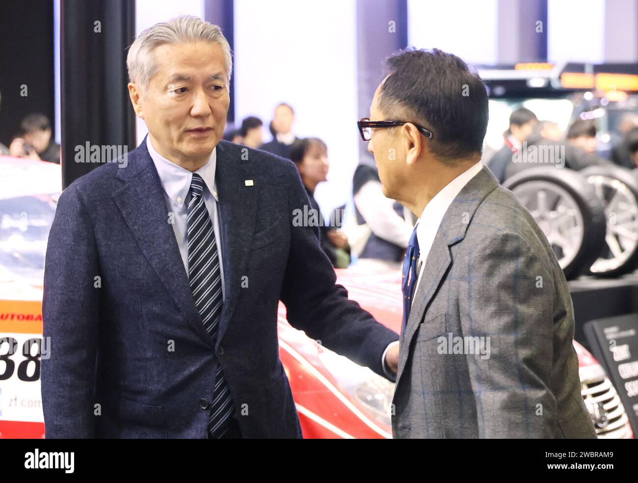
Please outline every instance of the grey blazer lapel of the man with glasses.
M436 290L441 285L445 273L452 264L450 247L462 241L465 237L474 212L489 193L498 186L498 181L488 168L473 177L452 201L445 216L441 220L438 232L427 255L423 278L414 295L414 304L410 309L410 316L405 331L401 334L399 350L399 367L397 369L397 385L403 374L403 369L410 355L410 345L419 324L426 315L427 308ZM396 393L395 393L396 394Z

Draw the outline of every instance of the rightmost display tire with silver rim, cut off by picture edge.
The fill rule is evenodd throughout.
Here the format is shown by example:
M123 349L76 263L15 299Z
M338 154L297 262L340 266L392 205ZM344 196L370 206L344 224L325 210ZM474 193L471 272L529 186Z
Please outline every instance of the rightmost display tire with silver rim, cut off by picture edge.
M581 174L605 208L605 246L590 267L591 275L617 277L638 267L638 180L625 168L598 165Z

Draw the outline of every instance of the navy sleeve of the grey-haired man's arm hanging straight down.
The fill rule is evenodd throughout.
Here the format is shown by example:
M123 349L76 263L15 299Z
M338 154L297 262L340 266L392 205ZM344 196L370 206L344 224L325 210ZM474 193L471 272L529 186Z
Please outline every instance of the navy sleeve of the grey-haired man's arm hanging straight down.
M60 196L48 236L41 364L47 438L93 438L100 276L93 226L77 185Z

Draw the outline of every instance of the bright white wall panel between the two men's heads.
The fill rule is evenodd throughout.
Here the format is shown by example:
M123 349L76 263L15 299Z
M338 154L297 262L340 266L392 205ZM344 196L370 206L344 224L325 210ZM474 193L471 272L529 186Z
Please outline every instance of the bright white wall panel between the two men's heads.
M350 198L359 163L356 26L353 0L235 0L235 120L260 117L270 140L274 107L292 105L297 136L328 145L323 212Z

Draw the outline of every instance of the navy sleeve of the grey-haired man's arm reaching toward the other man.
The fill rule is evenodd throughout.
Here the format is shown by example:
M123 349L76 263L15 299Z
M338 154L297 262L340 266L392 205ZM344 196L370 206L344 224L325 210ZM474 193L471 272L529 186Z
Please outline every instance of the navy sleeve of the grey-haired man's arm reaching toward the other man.
M348 300L348 291L336 284L316 227L293 225L293 212L303 211L309 199L292 163L286 175L291 236L281 301L286 306L288 322L330 350L386 377L383 351L399 336L376 322L357 302Z

